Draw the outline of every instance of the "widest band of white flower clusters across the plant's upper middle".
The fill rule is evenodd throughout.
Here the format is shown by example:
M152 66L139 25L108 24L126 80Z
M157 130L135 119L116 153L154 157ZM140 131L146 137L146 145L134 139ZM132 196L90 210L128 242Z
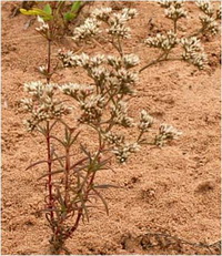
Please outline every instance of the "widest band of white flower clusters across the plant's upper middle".
M109 86L119 93L132 94L132 85L139 80L139 74L130 70L139 63L134 54L124 54L123 58L98 54L90 57L85 53L75 55L73 52L59 52L59 58L64 66L81 66L94 80L95 85ZM110 70L112 66L114 70Z

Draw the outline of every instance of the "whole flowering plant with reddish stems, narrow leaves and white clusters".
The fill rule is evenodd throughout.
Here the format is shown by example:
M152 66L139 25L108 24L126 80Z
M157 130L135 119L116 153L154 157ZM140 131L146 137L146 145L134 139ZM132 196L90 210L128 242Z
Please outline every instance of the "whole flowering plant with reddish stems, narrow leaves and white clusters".
M206 19L215 17L209 2L198 4ZM165 8L167 18L173 21L173 28L144 40L145 47L160 50L157 60L141 64L140 58L125 48L125 40L131 38L129 21L138 16L135 9L95 9L73 30L73 42L80 47L89 42L101 47L98 40L102 37L113 53L107 53L102 47L97 54L83 52L82 48L78 53L59 50L62 69L85 73L81 83L74 81L73 75L73 81L61 84L51 80L56 70L51 65L51 42L56 34L51 20L54 12L50 6L43 12L34 12L40 23L37 31L48 42L48 59L47 65L39 68L44 81L24 84L28 98L21 101L21 106L27 113L28 131L40 133L46 142L46 157L28 168L40 164L47 166L39 180L43 180L47 187L42 212L51 228L52 254L70 253L65 247L67 239L81 222L89 221L90 208L100 206L98 199L109 213L102 190L117 186L99 184L97 174L111 168L113 157L118 163L128 163L142 146L163 146L181 135L172 125L158 125L147 110L132 116L130 101L137 94L141 72L155 63L181 60L203 69L206 57L200 35L213 30L212 25L205 25L195 35L179 37L178 22L188 17L183 3L161 1L161 6ZM181 49L180 57L173 57L175 48ZM87 141L85 131L92 134L95 145Z

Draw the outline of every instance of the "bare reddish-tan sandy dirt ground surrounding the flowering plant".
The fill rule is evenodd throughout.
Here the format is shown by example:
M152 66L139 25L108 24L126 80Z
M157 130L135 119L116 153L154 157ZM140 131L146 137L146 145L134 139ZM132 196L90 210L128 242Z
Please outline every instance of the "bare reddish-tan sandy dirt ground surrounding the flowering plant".
M2 2L2 254L46 255L49 228L43 216L34 214L42 199L43 187L37 182L42 168L26 171L44 155L44 144L39 135L26 132L18 102L24 96L23 83L41 78L36 68L46 63L47 48L34 31L37 23L24 29L28 17L10 18L17 4ZM129 4L140 14L131 22L133 35L125 49L133 49L143 61L152 60L157 51L144 49L142 40L170 28L158 3L94 3ZM198 27L199 14L194 3L186 7L190 16L179 27L184 34ZM73 45L65 39L53 50ZM205 247L181 246L173 237L174 244L165 248L158 234L198 244L220 240L220 35L205 39L204 49L210 60L205 71L165 62L142 73L132 114L145 109L183 135L163 149L144 147L127 165L115 164L115 173L100 174L99 181L124 188L103 192L110 215L102 205L101 211L91 211L90 223L81 224L67 243L72 254L210 254ZM54 80L72 81L72 75L65 71ZM151 239L157 246L149 247ZM211 253L220 254L215 246Z

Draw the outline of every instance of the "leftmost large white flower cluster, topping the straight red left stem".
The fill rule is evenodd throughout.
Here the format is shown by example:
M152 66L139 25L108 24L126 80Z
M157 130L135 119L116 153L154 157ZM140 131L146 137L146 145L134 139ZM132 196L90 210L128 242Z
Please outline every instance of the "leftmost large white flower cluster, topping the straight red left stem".
M61 119L71 112L71 107L54 99L57 89L57 84L43 84L40 81L24 84L24 91L31 95L31 99L21 100L23 111L31 114L24 121L28 131L33 131L43 121Z

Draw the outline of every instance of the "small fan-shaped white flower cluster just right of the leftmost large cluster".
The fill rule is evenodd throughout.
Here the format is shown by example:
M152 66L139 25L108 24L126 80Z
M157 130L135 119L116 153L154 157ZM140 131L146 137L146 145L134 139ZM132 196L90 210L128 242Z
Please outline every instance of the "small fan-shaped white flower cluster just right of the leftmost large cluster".
M92 85L67 83L64 85L61 85L60 90L65 95L72 96L77 101L81 101L81 100L84 100L91 93L93 93L94 88Z

